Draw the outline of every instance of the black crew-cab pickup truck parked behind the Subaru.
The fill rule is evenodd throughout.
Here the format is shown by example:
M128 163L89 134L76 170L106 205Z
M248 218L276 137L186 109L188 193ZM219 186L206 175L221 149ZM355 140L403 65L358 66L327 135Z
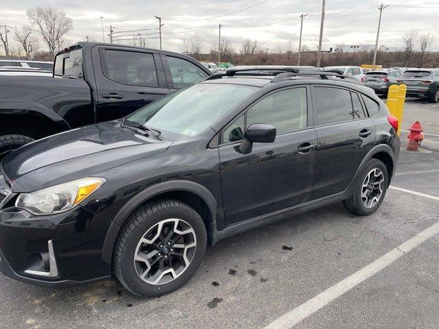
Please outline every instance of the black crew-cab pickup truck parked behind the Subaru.
M211 74L180 53L79 42L56 54L53 77L0 77L0 160L35 139L124 117Z

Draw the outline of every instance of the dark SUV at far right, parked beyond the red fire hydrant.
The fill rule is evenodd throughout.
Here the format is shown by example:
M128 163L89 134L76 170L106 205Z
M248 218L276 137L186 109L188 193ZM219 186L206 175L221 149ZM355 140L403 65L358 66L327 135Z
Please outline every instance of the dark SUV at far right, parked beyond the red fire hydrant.
M407 96L439 101L439 69L407 70L396 82L407 86Z

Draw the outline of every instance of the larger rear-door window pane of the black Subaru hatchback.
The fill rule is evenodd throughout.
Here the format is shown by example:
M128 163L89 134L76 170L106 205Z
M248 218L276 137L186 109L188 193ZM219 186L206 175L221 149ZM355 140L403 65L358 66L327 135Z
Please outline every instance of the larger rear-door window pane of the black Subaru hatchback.
M314 90L319 125L353 119L353 106L349 90L331 87L315 87Z

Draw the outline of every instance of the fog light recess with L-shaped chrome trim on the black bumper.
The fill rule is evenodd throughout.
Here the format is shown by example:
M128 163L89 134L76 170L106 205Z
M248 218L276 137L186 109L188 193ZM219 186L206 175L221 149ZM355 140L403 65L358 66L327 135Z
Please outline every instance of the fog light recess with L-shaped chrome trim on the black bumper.
M47 241L47 252L38 252L26 256L25 273L32 276L44 276L46 278L54 278L58 276L54 241Z

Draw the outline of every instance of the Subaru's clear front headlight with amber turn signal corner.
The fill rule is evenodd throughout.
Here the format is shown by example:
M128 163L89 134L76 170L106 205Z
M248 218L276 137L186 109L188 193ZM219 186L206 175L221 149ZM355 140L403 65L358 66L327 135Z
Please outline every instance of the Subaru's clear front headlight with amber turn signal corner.
M23 208L34 215L57 214L69 210L104 184L104 178L84 178L51 186L32 193L21 193L16 208Z

